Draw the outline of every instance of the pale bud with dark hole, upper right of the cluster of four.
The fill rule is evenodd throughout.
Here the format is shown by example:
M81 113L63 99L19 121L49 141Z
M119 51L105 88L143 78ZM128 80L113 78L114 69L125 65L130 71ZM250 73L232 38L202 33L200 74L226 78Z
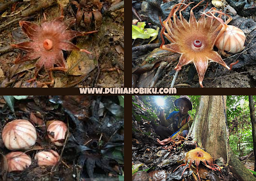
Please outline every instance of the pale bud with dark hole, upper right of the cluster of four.
M47 134L54 145L63 146L67 129L68 128L64 122L60 120L54 120L48 126Z

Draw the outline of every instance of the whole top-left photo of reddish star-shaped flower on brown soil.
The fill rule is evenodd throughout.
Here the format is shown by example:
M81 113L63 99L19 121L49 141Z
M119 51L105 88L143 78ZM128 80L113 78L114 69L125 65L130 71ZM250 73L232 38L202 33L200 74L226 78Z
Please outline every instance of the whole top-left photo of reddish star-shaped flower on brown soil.
M124 1L3 1L1 87L124 87Z

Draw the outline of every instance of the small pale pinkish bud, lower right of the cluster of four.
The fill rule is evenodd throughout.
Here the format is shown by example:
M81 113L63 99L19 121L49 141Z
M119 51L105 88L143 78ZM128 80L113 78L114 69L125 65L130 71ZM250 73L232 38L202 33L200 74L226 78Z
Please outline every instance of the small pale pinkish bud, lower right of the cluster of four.
M54 150L50 150L49 152L43 151L38 152L35 155L35 159L37 159L39 166L53 166L59 161L60 155Z

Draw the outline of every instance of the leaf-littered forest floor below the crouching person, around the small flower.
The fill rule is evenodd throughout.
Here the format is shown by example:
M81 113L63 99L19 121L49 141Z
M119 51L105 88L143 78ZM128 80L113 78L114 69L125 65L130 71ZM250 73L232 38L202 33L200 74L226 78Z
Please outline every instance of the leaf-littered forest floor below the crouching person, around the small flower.
M196 164L184 171L188 166L180 166L185 163L186 154L196 148L192 138L175 138L172 143L159 145L157 134L154 130L159 120L152 119L150 106L135 96L132 104L132 180L199 180L196 177ZM204 150L207 152L207 150ZM232 168L223 163L223 159L214 158L214 163L220 166L221 171L213 171L202 162L199 164L198 173L201 180L236 180ZM253 163L254 164L254 163ZM252 163L244 163L246 168L254 169ZM184 173L183 173L184 171ZM183 175L182 175L183 173Z

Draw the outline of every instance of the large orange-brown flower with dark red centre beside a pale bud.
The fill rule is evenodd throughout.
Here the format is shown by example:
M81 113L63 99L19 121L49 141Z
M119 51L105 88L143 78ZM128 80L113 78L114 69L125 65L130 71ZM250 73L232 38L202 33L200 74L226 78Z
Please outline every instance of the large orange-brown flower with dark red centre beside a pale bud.
M200 3L202 3L202 1L200 1ZM181 54L179 63L175 67L177 71L179 71L182 66L193 62L199 76L199 84L203 87L202 82L204 80L208 61L218 62L225 68L230 68L221 59L221 56L212 50L216 38L218 38L218 34L225 31L226 28L226 25L221 22L222 20L220 18L223 13L212 8L209 12L202 13L202 17L197 21L193 9L200 3L191 8L189 22L182 16L181 12L188 8L191 3L179 3L173 6L170 15L162 24L162 44L160 48ZM180 10L182 6L185 7ZM176 15L177 11L179 11L180 18ZM215 13L219 13L220 16L216 17L214 15ZM173 20L171 18L173 18ZM228 18L226 23L230 22L231 19L232 18ZM172 43L164 45L163 34Z

